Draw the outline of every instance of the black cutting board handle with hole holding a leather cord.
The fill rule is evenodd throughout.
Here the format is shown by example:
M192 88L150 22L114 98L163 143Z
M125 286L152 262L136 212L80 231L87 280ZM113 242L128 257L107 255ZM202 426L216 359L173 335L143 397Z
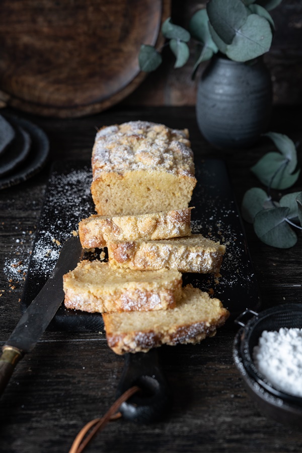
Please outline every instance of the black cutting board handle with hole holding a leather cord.
M138 386L141 392L122 403L119 408L125 419L146 423L160 420L167 414L172 406L172 394L155 349L147 353L125 355L116 397L134 385Z

